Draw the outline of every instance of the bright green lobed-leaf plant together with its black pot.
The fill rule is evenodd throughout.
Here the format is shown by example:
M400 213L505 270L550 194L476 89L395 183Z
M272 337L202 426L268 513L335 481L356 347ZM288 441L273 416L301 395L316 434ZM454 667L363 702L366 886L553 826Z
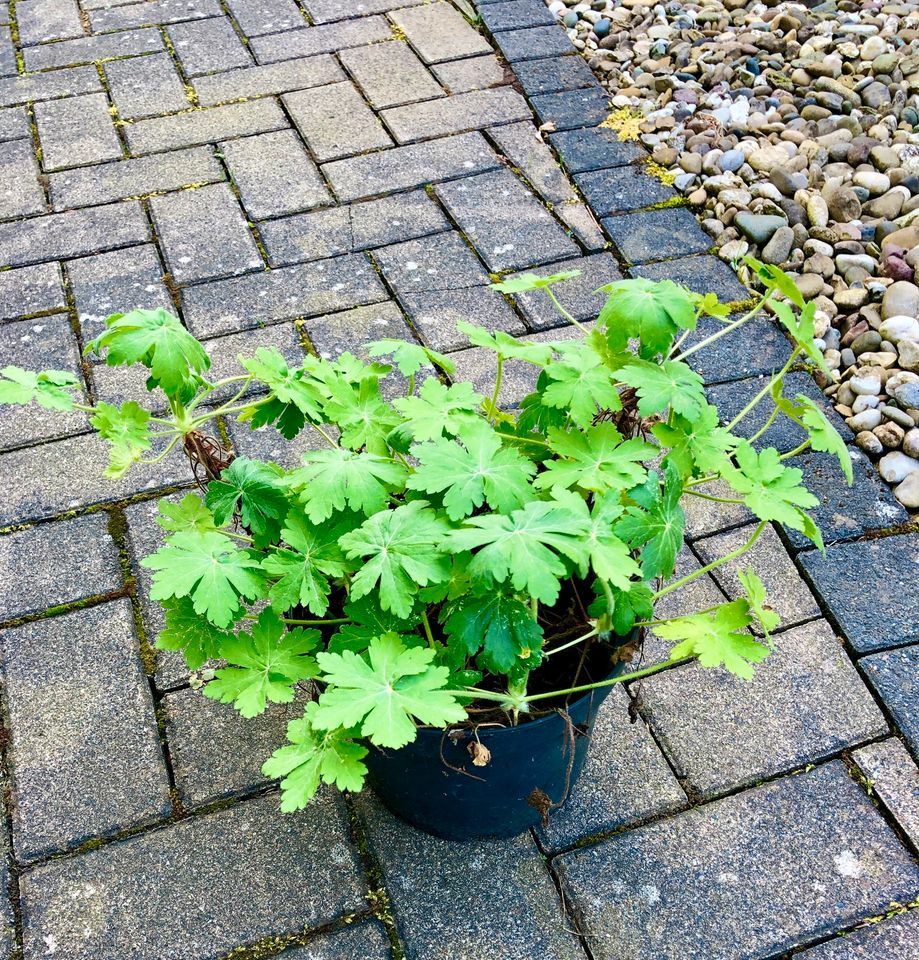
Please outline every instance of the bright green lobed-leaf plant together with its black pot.
M264 766L281 780L282 809L305 806L321 782L360 790L369 778L425 830L509 835L564 802L613 684L691 659L749 678L768 656L778 618L754 570L739 599L655 617L658 600L736 559L771 522L822 545L807 513L817 499L789 454L754 446L767 427L748 440L737 424L772 403L767 426L791 417L851 482L820 408L782 395L796 361L823 367L813 304L776 268L751 265L766 292L733 321L711 296L638 279L604 287L596 323L576 339L464 325L495 355L487 396L450 382L449 357L396 340L371 344L369 362L309 356L298 368L259 348L239 358L238 376L212 382L207 353L175 317L136 310L110 317L87 350L146 367L167 415L133 401L83 406L75 378L57 371L0 371L0 402L86 410L111 444L113 477L184 448L202 495L161 502L166 545L142 561L165 610L157 646L181 650L192 670L219 662L203 693L244 717L309 688L289 742ZM553 287L576 275L495 287L543 290L575 323ZM686 360L763 307L793 349L722 426ZM684 347L702 314L720 329ZM537 374L515 410L499 404L510 360ZM313 430L322 447L294 469L234 459L207 433L226 417L288 440ZM681 501L718 500L707 491L716 482L731 491L724 502L757 518L753 535L669 582ZM630 668L646 630L670 656Z

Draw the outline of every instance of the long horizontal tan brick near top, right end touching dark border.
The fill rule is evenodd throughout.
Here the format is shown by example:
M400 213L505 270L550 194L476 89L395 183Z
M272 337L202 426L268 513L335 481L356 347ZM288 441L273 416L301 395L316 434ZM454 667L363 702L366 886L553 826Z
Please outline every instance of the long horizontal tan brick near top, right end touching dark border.
M380 116L397 143L430 140L451 133L481 130L496 123L529 120L530 109L510 87L473 90L384 110Z

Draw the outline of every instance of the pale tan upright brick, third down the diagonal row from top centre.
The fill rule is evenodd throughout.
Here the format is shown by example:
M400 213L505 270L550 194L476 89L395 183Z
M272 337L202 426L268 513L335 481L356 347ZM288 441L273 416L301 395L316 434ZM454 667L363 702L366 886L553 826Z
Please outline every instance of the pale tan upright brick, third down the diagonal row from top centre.
M332 83L282 97L306 145L320 163L388 147L392 140L349 83Z

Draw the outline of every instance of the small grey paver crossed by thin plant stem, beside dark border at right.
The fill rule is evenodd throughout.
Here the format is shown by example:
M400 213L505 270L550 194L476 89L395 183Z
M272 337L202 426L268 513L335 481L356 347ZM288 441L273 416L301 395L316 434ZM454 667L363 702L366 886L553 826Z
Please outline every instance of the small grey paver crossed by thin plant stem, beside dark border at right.
M738 527L696 540L693 547L702 561L709 564L742 547L754 530L754 526ZM733 600L745 595L738 574L751 568L766 585L769 606L781 618L782 629L820 616L820 607L814 595L795 569L774 527L767 526L747 553L716 567L712 576Z

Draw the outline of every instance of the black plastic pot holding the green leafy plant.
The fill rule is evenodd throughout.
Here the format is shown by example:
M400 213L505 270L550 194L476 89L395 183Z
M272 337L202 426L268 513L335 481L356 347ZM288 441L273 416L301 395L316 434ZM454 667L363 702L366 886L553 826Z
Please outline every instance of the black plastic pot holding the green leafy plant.
M609 676L625 666L617 664ZM370 784L396 816L436 836L515 836L567 800L584 766L597 710L611 689L572 700L570 724L551 713L516 727L480 726L475 733L421 729L401 750L370 751ZM485 766L472 762L469 748L476 739L491 754Z

